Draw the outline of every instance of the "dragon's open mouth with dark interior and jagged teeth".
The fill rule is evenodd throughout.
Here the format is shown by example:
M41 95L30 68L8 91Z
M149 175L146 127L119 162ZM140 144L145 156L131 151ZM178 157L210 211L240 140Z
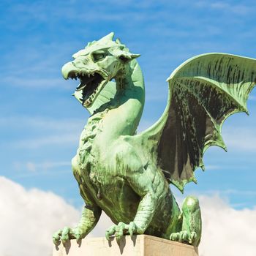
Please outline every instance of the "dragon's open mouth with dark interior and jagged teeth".
M105 74L101 72L69 72L68 78L80 79L80 84L75 91L81 91L80 101L85 107L89 107L97 98L99 91L108 82Z

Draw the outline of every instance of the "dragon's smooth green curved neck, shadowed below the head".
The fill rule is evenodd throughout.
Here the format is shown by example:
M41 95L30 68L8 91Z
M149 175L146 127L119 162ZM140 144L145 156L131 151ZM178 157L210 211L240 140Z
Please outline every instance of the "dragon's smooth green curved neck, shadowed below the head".
M136 60L126 65L115 78L116 95L102 118L102 138L114 140L121 135L134 135L145 101L143 75Z

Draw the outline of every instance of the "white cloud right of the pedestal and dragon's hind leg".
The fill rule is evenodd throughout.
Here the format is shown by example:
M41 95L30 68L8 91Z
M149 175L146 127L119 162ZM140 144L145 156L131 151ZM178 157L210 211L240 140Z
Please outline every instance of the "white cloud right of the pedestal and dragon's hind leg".
M200 256L255 256L256 208L235 210L224 200L200 197L203 236Z

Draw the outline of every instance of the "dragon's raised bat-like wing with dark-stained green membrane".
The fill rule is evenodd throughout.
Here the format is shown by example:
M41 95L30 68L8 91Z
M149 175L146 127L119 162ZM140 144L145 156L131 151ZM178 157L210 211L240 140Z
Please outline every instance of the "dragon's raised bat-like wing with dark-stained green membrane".
M247 112L246 100L256 83L256 59L225 53L195 56L167 78L169 97L162 117L140 135L165 178L183 192L203 167L209 146L226 150L225 119Z

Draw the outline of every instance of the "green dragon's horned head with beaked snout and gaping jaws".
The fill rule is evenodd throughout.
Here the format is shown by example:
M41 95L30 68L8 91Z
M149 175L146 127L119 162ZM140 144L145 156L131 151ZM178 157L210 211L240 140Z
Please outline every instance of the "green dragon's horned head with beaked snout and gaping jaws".
M113 36L112 32L98 41L89 42L61 69L65 79L80 80L75 97L85 108L93 105L104 86L120 75L129 61L140 56L129 53L119 39L113 41Z

